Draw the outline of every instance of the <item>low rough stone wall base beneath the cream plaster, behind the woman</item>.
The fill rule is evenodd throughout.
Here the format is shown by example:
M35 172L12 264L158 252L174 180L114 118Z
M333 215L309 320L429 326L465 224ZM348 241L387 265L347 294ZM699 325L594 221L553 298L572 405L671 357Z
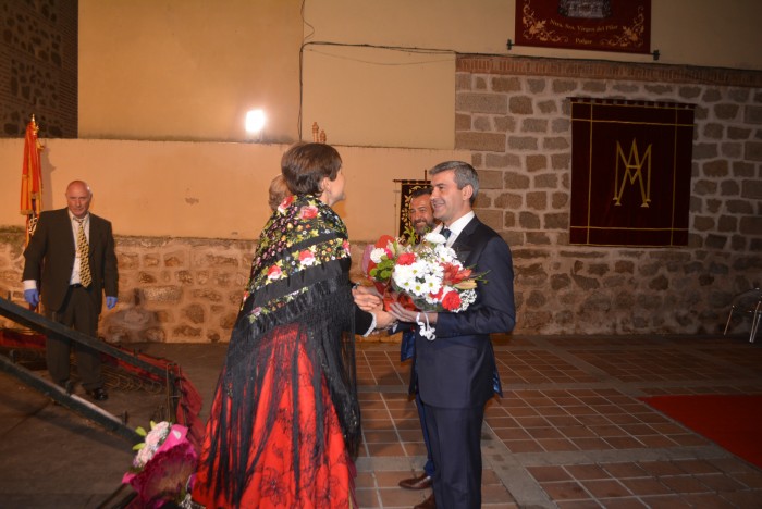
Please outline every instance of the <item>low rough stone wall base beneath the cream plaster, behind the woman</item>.
M248 281L251 240L116 236L119 303L101 315L109 342L226 342ZM25 306L21 229L0 232L0 296ZM360 260L364 246L353 246ZM359 277L358 268L353 278ZM0 319L0 326L17 326Z

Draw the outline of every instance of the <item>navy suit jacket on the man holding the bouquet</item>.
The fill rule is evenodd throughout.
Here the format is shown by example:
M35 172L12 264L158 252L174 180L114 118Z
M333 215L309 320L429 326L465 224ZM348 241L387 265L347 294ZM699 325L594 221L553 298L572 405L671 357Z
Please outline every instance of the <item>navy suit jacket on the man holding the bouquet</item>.
M490 334L516 323L514 270L508 245L474 218L453 249L464 266L484 273L466 311L439 313L437 338L416 334L418 390L425 404L442 408L483 406L494 392L495 357Z

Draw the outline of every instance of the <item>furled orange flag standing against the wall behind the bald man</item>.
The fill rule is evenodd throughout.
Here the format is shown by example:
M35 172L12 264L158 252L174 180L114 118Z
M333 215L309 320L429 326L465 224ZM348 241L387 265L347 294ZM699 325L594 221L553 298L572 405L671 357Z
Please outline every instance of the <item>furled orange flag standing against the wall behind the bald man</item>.
M24 138L24 167L21 173L21 213L26 215L26 244L35 233L37 220L42 209L42 165L39 153L45 147L37 139L35 115L26 125Z

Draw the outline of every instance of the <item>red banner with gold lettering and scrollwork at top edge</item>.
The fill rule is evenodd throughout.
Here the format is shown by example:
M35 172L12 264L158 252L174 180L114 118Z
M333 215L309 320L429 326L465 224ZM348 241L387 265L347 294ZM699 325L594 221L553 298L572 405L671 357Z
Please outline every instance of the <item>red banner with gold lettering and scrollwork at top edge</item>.
M651 0L516 0L516 44L651 52Z

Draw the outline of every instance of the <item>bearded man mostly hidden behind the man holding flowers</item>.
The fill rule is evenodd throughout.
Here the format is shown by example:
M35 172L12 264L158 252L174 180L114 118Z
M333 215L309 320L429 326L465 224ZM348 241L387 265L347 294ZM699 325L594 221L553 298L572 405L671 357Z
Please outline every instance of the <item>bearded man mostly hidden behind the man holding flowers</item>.
M431 232L437 223L434 222L433 211L431 209L431 187L420 187L410 194L410 208L408 210L410 225L416 231L416 239L420 241L423 236ZM426 412L423 410L423 401L418 394L418 375L416 373L415 359L415 331L407 330L402 334L402 343L400 345L400 360L405 361L413 358L410 367L410 387L409 393L415 394L416 406L418 407L418 419L420 419L420 427L423 432L423 444L426 445L426 465L423 473L410 479L400 481L400 486L407 489L426 489L431 487L431 480L434 475L434 462L431 459L431 448L429 446L429 433L426 430ZM415 506L415 509L435 508L433 494L423 502Z

